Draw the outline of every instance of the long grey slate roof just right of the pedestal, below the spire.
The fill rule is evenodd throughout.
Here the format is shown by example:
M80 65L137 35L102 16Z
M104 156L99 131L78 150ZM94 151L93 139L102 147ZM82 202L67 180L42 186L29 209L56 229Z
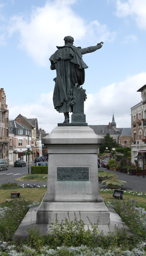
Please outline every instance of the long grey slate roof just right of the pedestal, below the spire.
M110 135L118 135L117 132L111 127L109 130L109 125L88 125L92 128L97 135L105 136L107 133ZM104 129L104 133L102 132Z

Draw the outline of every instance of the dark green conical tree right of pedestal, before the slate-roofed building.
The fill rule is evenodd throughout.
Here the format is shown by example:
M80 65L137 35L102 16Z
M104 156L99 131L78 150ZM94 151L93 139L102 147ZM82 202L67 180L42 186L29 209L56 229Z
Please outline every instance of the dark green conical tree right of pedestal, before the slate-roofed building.
M106 147L108 147L108 150L111 151L111 149L114 147L119 147L119 144L116 142L115 139L113 139L113 137L110 137L110 134L107 133L105 136L105 143L102 144L100 147L99 147L99 153L102 154L104 153L104 150L106 149Z

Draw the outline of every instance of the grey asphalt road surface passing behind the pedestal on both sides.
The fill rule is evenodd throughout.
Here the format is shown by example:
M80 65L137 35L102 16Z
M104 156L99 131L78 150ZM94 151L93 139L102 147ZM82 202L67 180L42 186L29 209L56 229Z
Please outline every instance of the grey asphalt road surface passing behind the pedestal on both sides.
M30 163L31 165L35 165L34 162ZM118 175L119 180L125 180L127 182L126 186L123 188L127 191L132 190L132 191L139 191L139 192L144 192L146 193L146 176L143 178L143 176L137 177L136 175L129 175L126 173L122 172L114 172L111 170L107 170L106 168L100 167L99 170L104 170L108 171L110 173L114 173ZM17 182L18 185L21 185L23 183L25 184L40 184L40 185L47 185L47 181L15 181L15 179L25 176L28 173L28 165L26 167L11 167L8 169L8 171L1 171L0 172L0 186L3 183L8 183L8 182ZM99 181L99 188L107 188L105 185L101 184L101 181Z

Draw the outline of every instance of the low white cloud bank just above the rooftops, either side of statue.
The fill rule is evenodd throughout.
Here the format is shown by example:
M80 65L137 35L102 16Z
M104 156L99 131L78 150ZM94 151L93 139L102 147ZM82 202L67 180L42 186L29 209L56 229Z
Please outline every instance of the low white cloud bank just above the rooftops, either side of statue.
M114 110L117 127L130 127L131 117L127 115L130 115L130 108L141 101L141 95L137 90L145 84L145 81L146 72L142 72L127 77L125 81L102 87L98 93L95 92L95 94L87 95L85 114L88 124L108 125L109 121L112 121ZM51 132L57 126L57 123L64 121L64 114L58 113L54 109L52 97L53 92L49 92L47 94L42 93L40 95L40 101L35 104L14 105L12 103L11 105L7 103L9 119L15 119L19 113L27 118L37 118L39 128Z

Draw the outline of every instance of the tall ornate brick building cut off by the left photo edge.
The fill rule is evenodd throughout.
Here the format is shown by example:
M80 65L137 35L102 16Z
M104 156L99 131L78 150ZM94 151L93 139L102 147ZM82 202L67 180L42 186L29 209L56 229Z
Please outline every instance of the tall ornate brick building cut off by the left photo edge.
M8 136L9 110L6 104L6 95L0 89L0 160L9 164L9 136Z

